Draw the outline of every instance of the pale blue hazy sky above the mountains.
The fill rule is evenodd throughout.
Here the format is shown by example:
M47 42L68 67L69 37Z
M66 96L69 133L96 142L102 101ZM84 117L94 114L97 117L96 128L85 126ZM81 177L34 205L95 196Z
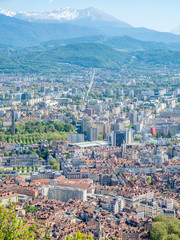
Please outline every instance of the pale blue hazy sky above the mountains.
M169 31L180 26L180 0L0 0L0 8L14 11L90 6L135 27Z

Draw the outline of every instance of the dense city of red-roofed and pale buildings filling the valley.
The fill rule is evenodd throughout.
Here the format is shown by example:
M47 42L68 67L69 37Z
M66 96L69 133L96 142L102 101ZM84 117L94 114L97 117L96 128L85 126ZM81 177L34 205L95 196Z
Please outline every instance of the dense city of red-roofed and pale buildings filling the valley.
M179 81L143 68L2 74L2 203L51 239L149 239L156 216L180 218Z

